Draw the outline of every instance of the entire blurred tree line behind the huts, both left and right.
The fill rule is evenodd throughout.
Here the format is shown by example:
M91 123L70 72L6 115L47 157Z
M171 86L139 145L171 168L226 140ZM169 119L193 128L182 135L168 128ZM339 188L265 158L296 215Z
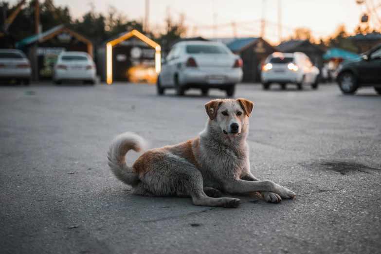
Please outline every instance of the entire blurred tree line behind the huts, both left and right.
M9 17L16 5L10 5L8 2L3 2L0 7L0 20L5 21ZM143 21L128 19L127 16L118 12L115 7L110 6L106 14L102 14L95 10L94 4L91 4L90 11L85 13L81 18L73 18L69 11L68 6L54 6L49 10L46 2L40 3L40 24L43 31L49 30L57 25L66 24L74 31L81 33L93 40L95 44L113 38L121 33L131 31L133 29L139 32L143 31ZM5 14L5 17L4 17ZM161 31L163 30L163 31ZM181 16L175 20L171 16L165 18L164 29L153 29L152 31L161 32L145 32L155 42L165 46L168 42L176 40L187 32L187 27L184 25L184 18ZM356 34L369 33L371 30L369 26L358 26L355 31ZM375 31L373 31L375 32ZM20 11L12 25L9 27L9 33L20 40L22 38L35 35L35 0L29 1L24 8ZM338 47L344 50L358 53L358 49L351 43L348 38L349 33L346 31L345 26L341 25L336 29L333 36L326 38L314 39L312 32L308 28L296 28L294 35L288 39L308 39L320 45L323 48Z

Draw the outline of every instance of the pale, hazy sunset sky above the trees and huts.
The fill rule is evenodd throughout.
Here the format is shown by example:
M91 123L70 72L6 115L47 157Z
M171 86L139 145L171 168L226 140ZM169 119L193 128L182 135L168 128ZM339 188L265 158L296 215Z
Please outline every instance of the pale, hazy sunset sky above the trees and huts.
M10 0L16 3L18 0ZM367 0L375 6L381 0ZM129 19L144 20L145 0L53 0L55 5L68 5L71 14L80 18L90 11L93 3L97 12L107 13L110 5ZM265 2L263 8L263 2ZM266 19L264 38L276 44L278 35L278 2L281 4L282 37L289 37L293 29L307 27L314 37L333 35L337 26L344 24L348 32L360 24L365 5L355 0L149 0L149 28L163 27L167 13L174 19L185 15L187 36L232 37L232 21L236 36L260 36L260 19L264 9ZM377 9L381 18L381 7ZM371 15L370 24L378 17ZM216 30L213 25L219 25ZM221 26L224 25L224 26Z

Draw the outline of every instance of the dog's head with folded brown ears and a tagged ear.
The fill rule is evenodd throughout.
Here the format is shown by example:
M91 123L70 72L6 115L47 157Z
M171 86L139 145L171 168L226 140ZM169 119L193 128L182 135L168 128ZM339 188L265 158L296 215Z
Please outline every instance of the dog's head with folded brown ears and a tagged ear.
M249 125L248 117L253 111L254 103L239 98L216 99L205 104L205 110L214 129L220 129L225 135L239 135Z

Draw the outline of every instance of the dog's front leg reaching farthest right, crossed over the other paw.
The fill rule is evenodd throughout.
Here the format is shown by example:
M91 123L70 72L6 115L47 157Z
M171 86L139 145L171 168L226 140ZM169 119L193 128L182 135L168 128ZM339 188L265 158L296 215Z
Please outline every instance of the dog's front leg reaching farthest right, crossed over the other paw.
M270 191L282 199L294 199L296 194L273 181L245 181L234 179L224 184L224 190L231 194L249 194L255 191Z

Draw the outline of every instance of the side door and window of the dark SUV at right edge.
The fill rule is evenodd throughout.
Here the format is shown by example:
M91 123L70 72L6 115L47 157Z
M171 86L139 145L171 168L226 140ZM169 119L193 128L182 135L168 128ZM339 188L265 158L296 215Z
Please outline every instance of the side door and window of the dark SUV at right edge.
M381 47L359 63L359 74L363 83L381 83Z

